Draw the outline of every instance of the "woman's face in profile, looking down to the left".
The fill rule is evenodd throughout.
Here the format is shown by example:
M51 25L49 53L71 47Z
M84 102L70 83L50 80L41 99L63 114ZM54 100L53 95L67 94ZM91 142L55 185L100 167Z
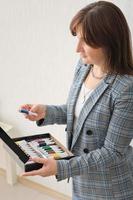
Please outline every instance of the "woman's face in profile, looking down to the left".
M76 52L85 64L94 64L103 67L105 64L105 53L103 48L93 48L85 43L80 33L77 33Z

